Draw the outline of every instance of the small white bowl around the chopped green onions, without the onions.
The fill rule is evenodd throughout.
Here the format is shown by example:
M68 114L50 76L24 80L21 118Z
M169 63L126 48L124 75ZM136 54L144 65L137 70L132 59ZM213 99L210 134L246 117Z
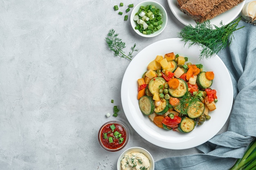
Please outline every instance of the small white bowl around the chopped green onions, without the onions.
M159 8L160 13L162 13L162 21L163 21L163 24L161 24L162 25L161 29L155 31L154 33L148 34L148 35L147 34L143 34L143 33L139 32L139 30L135 29L136 23L133 20L133 17L135 16L135 13L137 13L139 11L139 8L141 6L147 6L147 5L153 5L153 6L155 6L155 8ZM137 4L132 9L132 13L130 15L130 23L131 23L132 29L138 35L140 35L142 37L147 37L147 38L155 37L155 36L159 35L160 33L162 33L162 31L164 31L164 29L166 27L167 20L168 20L168 16L167 16L167 13L166 13L166 10L164 9L164 7L161 4L159 4L158 2L155 2L155 1L152 1L152 0L146 0L146 1L143 1L143 2L140 2L139 4Z

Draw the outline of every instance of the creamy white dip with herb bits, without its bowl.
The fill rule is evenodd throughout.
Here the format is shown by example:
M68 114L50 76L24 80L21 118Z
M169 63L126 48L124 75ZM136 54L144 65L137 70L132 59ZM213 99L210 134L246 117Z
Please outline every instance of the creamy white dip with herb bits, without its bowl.
M140 152L130 152L121 160L122 170L149 170L148 157Z

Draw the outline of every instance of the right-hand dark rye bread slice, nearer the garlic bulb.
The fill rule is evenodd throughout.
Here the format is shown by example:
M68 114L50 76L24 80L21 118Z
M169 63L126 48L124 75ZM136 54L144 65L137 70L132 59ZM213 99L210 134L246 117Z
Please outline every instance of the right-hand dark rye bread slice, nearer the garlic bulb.
M220 4L218 4L216 7L214 7L213 10L204 15L204 17L196 20L196 22L202 23L206 20L211 20L212 18L226 12L227 10L235 7L241 2L243 2L243 0L224 0L223 2L220 2Z

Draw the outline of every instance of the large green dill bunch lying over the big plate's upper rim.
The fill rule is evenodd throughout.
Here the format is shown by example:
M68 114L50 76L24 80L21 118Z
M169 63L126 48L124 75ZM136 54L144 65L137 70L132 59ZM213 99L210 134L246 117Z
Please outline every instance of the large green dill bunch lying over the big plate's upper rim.
M178 38L182 38L185 44L189 42L189 47L193 44L202 47L199 56L200 59L204 57L210 58L212 55L217 54L231 44L234 38L234 31L245 27L236 28L240 20L241 17L227 25L223 25L221 21L220 27L212 25L209 20L200 24L198 23L195 27L189 24L184 26L184 28L177 33Z

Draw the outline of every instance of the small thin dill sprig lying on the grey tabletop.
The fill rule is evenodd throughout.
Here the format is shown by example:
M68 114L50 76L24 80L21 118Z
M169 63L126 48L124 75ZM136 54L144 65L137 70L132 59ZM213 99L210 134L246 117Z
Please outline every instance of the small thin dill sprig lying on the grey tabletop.
M110 31L108 32L108 37L106 37L106 43L108 44L108 48L111 51L114 51L115 56L127 58L129 60L132 60L132 53L134 51L138 51L138 49L135 49L136 44L134 44L131 47L131 51L128 53L128 55L126 55L123 51L123 49L126 47L125 42L123 42L121 38L118 38L118 33L115 33L114 29L110 29Z

